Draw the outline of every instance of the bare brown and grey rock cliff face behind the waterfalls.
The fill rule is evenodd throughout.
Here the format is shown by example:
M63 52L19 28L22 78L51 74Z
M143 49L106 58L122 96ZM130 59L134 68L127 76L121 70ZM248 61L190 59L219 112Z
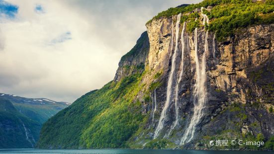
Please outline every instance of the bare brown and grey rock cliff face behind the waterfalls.
M214 39L214 33L207 34L203 27L197 29L197 36L194 32L183 31L184 38L181 37L181 23L176 47L176 19L177 16L161 18L147 25L150 42L148 66L151 74L144 77L143 82L163 84L151 91L152 104L148 109L150 119L144 132L140 133L134 142L151 148L154 145L147 142L148 139L167 140L168 143L171 142L170 148L214 149L208 146L207 140L223 137L256 138L258 134L263 134L265 139L273 136L274 115L269 109L274 107L274 24L241 29L234 37L218 42ZM177 54L172 64L175 52ZM186 142L186 139L185 143L182 143L184 134L191 125L191 119L197 114L194 111L195 103L200 103L197 100L199 96L195 91L195 84L197 78L201 78L197 77L195 63L198 62L201 69L203 55L206 74L205 87L202 89L202 93L206 95L203 100L204 106L200 119L194 125L196 129L192 134L192 140ZM195 60L195 56L198 57L198 61ZM173 73L172 65L175 66ZM158 72L162 72L162 76L152 79ZM167 105L167 88L171 74L172 94ZM155 106L157 109L154 111ZM164 115L164 127L155 138L155 130L165 107L167 112ZM176 119L178 122L174 126Z

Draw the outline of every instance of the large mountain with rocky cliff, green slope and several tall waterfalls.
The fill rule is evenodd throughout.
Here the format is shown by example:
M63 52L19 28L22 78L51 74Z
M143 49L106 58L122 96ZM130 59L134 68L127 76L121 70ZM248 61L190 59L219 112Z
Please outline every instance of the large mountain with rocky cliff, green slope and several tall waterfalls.
M274 150L273 0L204 0L146 26L112 81L43 125L38 148Z

